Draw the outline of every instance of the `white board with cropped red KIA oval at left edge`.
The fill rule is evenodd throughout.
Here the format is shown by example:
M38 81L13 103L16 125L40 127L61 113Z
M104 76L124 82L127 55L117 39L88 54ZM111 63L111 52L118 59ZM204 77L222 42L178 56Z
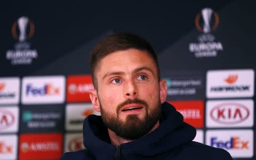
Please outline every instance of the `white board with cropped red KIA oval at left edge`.
M0 133L17 132L19 125L19 108L0 107Z

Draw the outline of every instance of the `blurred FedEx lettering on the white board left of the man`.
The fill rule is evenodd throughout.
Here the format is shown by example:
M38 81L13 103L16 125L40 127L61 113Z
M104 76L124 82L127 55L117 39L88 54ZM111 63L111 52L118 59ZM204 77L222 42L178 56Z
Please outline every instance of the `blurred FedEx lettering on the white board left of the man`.
M47 83L42 87L35 87L32 84L28 84L26 87L26 94L29 95L54 95L59 94L59 87L54 87L52 84Z

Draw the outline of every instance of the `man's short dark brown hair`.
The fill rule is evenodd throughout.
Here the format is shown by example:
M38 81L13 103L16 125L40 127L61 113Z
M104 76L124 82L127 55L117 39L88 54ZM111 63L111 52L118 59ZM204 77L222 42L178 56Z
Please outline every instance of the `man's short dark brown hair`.
M97 45L90 55L90 66L93 85L95 89L98 89L98 81L95 77L95 71L98 68L98 63L100 60L105 58L107 55L116 52L124 51L128 49L137 49L141 51L146 51L148 55L155 61L157 67L157 77L160 80L160 71L158 65L157 54L153 46L146 41L146 39L131 33L115 33L103 38Z

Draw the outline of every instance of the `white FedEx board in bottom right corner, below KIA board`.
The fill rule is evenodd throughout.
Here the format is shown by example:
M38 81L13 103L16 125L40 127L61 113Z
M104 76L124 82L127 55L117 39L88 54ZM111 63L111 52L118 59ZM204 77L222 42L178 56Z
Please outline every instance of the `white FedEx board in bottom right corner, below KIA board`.
M253 156L252 130L209 130L206 145L227 150L233 158Z

